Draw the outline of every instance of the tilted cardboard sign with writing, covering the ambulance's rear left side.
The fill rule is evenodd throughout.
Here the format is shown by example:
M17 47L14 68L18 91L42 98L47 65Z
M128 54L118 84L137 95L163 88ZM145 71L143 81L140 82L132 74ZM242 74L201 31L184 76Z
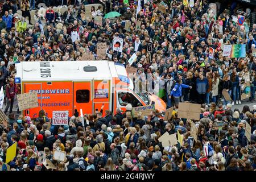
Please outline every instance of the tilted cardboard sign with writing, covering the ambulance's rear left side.
M19 110L26 110L38 107L38 93L28 92L17 95Z

